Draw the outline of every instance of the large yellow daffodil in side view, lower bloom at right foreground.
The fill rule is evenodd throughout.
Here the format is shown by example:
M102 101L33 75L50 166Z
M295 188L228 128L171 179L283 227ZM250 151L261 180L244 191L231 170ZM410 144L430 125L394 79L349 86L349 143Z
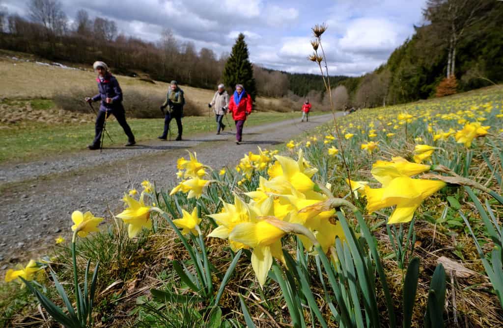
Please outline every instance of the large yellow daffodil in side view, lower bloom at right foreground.
M391 180L385 188L372 189L365 186L366 208L369 213L372 213L396 205L388 219L388 224L410 222L417 207L445 185L443 181L401 176Z

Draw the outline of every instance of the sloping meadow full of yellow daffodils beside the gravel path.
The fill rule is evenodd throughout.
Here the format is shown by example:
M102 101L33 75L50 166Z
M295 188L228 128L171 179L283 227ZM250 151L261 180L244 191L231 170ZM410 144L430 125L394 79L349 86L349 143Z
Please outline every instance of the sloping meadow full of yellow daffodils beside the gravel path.
M236 167L189 153L177 186L74 211L8 270L2 322L503 326L502 91L361 110Z

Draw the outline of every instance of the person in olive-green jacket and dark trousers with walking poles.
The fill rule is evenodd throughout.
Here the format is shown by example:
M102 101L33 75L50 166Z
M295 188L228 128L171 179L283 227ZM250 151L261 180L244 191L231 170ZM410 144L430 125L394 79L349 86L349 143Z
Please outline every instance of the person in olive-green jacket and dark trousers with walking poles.
M177 141L182 140L182 117L184 113L185 97L184 91L178 86L178 82L173 80L170 83L170 89L166 94L166 101L160 106L160 111L164 114L164 132L162 135L157 137L161 140L167 139L167 133L170 130L170 122L172 119L177 121L178 127L178 137ZM168 107L166 113L164 113L164 108Z

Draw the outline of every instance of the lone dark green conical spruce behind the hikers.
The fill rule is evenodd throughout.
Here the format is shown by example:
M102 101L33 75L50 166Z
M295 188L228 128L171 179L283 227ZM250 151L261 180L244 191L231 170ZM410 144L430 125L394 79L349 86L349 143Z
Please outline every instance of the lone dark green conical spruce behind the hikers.
M223 81L225 85L231 88L234 88L236 84L242 84L251 99L255 101L257 89L253 77L253 66L248 60L248 55L248 46L244 42L244 34L240 33L225 63Z

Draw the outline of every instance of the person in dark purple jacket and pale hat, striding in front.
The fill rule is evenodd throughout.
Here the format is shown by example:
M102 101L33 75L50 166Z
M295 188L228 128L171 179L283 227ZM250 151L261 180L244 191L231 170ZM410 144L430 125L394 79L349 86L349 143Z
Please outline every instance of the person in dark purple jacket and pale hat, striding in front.
M136 144L134 141L133 132L126 122L126 112L122 105L122 90L117 79L108 70L107 64L102 61L96 61L93 64L95 72L98 73L96 81L98 82L98 93L94 97L86 97L86 101L91 103L93 101L101 100L100 110L96 117L95 125L95 139L89 149L100 149L100 140L103 134L103 127L105 120L113 114L117 122L124 129L124 133L128 137L128 143L125 146L133 146Z

